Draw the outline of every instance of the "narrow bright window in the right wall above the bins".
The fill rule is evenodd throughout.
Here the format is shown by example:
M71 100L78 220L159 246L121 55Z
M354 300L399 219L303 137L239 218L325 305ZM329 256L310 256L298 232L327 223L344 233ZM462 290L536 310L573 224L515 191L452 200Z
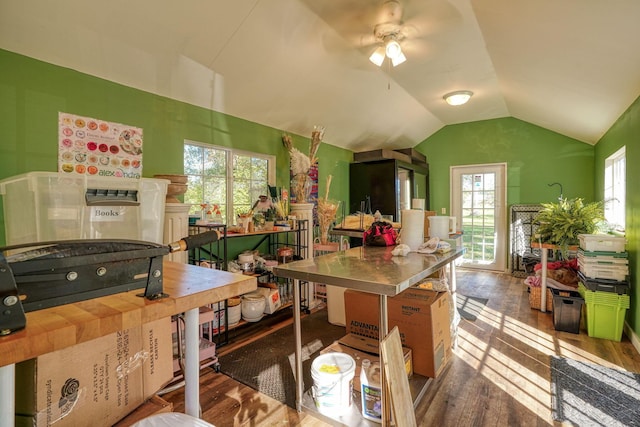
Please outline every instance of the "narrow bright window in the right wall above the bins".
M626 154L622 147L604 162L604 216L618 231L625 228Z

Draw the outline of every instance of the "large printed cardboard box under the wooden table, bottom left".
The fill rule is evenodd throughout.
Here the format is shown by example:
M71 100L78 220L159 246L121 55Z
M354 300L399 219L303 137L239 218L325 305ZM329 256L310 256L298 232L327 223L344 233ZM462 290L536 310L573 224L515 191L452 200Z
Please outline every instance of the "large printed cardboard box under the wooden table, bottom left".
M170 321L16 364L16 425L113 425L173 378Z

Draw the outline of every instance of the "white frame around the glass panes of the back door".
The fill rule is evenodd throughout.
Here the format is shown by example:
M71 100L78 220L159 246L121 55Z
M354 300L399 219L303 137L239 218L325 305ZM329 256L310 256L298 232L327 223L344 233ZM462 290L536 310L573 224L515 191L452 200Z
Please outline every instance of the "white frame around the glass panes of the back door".
M460 175L473 172L495 172L496 173L496 198L495 198L495 218L496 228L496 258L493 264L471 264L464 263L462 266L483 270L507 271L507 164L506 163L485 163L477 165L451 166L449 168L449 205L450 213L457 219L458 226L462 228L462 206L460 194Z

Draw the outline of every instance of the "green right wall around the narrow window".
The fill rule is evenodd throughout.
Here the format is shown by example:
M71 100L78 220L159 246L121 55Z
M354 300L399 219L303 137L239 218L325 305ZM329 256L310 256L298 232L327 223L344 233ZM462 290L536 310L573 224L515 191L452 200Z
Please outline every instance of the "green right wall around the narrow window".
M639 238L640 238L640 168L633 166L640 160L640 98L620 116L609 131L598 141L595 147L595 192L598 198L604 198L604 162L619 148L626 146L627 163L627 210L626 230L627 252L629 252L629 276L631 277L631 308L627 311L627 322L636 334L640 333L640 277Z

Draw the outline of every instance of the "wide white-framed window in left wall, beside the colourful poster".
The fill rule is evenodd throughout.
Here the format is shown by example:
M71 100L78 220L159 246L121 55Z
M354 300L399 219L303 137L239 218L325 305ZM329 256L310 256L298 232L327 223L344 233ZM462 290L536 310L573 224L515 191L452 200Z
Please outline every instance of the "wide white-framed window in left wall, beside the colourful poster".
M189 188L184 202L190 213L200 213L201 205L217 205L226 224L238 212L246 212L275 178L275 157L249 153L193 141L184 143L184 173Z

